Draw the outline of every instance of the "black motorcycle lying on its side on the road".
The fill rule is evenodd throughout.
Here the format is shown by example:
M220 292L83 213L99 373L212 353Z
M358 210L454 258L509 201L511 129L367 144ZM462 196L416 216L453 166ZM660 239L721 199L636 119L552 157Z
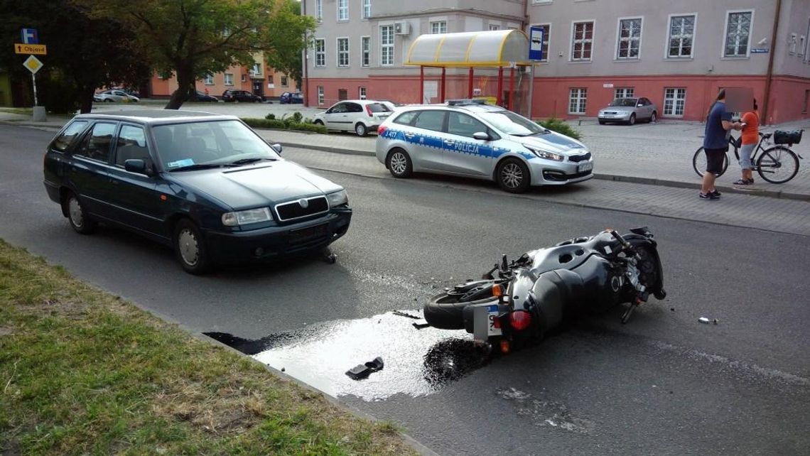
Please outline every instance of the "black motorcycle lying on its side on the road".
M608 229L523 254L506 255L481 280L448 288L424 305L424 319L467 330L501 352L537 342L587 311L629 303L621 322L650 295L659 300L663 269L649 228L620 235Z

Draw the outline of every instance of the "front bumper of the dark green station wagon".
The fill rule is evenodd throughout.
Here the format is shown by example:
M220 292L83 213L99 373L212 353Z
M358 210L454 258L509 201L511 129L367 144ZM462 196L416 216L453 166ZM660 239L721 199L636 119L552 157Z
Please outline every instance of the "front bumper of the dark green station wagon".
M215 262L245 262L301 254L325 248L348 231L352 209L335 208L317 219L245 232L207 231L208 253Z

